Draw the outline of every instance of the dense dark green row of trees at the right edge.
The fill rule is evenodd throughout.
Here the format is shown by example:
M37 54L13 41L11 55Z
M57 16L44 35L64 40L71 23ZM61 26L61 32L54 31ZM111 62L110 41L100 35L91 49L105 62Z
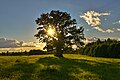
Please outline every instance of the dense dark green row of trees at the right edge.
M120 58L120 41L110 38L105 41L98 39L82 47L79 53L94 57Z

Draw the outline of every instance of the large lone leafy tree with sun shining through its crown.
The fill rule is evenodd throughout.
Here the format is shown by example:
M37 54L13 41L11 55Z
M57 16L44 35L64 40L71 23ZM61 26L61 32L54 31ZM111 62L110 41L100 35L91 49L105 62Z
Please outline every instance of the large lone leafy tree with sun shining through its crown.
M63 57L64 50L72 45L76 45L77 48L84 45L83 27L77 27L76 20L71 19L67 12L52 10L50 13L43 13L35 21L39 25L35 37L46 43L44 49L56 51L57 57Z

